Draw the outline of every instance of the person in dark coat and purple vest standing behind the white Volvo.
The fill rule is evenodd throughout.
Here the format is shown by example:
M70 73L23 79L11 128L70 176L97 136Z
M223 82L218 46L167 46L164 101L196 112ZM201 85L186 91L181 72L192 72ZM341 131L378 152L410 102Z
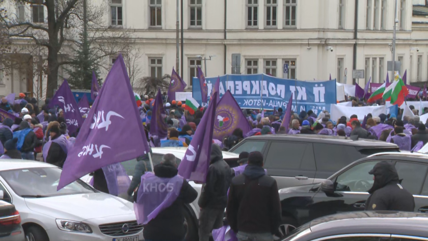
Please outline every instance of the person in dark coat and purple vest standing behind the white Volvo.
M50 141L43 147L43 158L46 163L62 168L67 158L67 138L61 135L60 123L52 121L47 127Z

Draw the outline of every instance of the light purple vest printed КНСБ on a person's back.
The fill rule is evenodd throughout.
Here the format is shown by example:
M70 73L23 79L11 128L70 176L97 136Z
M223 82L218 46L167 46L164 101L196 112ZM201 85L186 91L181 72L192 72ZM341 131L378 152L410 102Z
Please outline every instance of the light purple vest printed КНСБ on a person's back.
M137 202L134 211L139 224L147 224L177 199L183 185L183 178L176 175L172 178L157 177L149 172L141 176Z

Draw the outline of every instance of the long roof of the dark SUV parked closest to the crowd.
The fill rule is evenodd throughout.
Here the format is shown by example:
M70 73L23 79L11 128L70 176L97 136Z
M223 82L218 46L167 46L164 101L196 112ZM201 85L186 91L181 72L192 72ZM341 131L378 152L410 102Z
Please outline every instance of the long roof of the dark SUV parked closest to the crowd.
M246 138L246 140L271 140L271 141L300 141L300 142L316 142L316 143L329 143L329 144L340 144L347 146L359 146L359 147L384 147L384 148L397 148L398 146L393 143L369 140L369 139L358 139L356 141L351 140L349 137L337 137L337 136L325 136L325 135L262 135L252 136Z

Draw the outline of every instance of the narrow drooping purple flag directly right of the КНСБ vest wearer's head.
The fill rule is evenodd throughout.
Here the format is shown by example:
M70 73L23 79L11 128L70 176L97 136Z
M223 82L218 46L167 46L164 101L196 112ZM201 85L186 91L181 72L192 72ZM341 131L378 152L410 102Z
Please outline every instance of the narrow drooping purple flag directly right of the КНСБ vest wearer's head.
M217 109L217 95L203 115L195 135L186 150L183 160L178 166L178 174L184 179L205 183L211 156L212 133L214 130L215 114Z

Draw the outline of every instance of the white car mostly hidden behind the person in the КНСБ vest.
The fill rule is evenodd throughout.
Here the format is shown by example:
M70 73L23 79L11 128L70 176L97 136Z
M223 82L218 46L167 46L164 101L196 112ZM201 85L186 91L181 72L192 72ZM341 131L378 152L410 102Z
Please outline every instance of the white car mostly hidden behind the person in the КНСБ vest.
M184 157L186 150L187 150L186 147L155 147L155 148L152 148L153 166L156 166L157 164L161 163L162 157L165 154L171 153L171 154L174 154L175 157L177 158L177 167L178 167L180 165L181 160ZM229 164L230 167L236 167L238 165L237 164L238 158L239 158L238 154L223 151L223 159ZM143 161L141 161L141 162L143 162ZM149 169L148 171L151 171L149 162L145 161L145 160L144 160L144 162L146 162L146 167L147 167L147 169ZM121 164L125 168L126 173L129 175L129 178L132 179L132 175L134 173L135 166L137 165L137 159L128 160L128 161L123 162ZM82 177L81 179L86 181L87 183L89 183L89 181L91 180L91 177L89 175L86 175L86 176ZM198 240L198 219L199 219L199 211L200 211L199 205L198 205L198 200L199 200L199 196L201 194L202 184L198 184L198 183L195 183L193 181L190 181L189 184L191 186L193 186L193 188L198 192L198 198L196 198L196 200L193 201L193 203L191 203L190 205L186 205L186 212L184 213L184 217L185 217L184 225L187 229L185 240Z

